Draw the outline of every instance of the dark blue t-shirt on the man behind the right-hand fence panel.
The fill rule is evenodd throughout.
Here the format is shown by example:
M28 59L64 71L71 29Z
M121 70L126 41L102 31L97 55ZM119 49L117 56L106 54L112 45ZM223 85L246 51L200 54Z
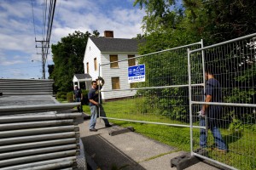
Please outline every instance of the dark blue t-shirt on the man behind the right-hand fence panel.
M211 78L206 83L205 96L211 95L211 102L222 102L221 86L215 78ZM209 118L219 118L221 114L221 105L209 105L207 116Z

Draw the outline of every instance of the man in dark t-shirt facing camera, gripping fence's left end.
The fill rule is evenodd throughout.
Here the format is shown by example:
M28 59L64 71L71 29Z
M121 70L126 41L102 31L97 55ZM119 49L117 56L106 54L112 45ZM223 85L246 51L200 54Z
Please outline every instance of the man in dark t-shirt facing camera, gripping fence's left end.
M100 83L102 81L102 83ZM99 82L99 83L97 83ZM99 87L102 89L102 86L104 85L104 79L102 77L99 77L98 81L92 81L91 82L91 88L88 94L88 99L90 101L90 132L96 132L97 129L95 128L96 126L96 119L98 115L98 111L100 109L101 114L100 116L106 117L106 113L102 107L102 97L99 99ZM107 118L103 118L103 121L105 123L105 127L111 127L111 125L108 122Z

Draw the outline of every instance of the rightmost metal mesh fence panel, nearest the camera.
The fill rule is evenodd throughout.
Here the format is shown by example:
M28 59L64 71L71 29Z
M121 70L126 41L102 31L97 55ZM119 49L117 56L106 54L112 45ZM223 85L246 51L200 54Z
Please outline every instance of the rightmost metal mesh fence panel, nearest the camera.
M221 87L210 83L215 102L204 102L204 88L189 86L191 116L192 155L213 161L231 169L256 168L256 34L221 42L201 49L189 50L189 85L204 82L204 70L211 70ZM203 62L201 62L203 61ZM216 87L216 88L215 88ZM209 93L207 93L209 94ZM222 96L222 99L217 99ZM208 105L207 116L199 117L202 105ZM201 120L207 126L201 129ZM207 129L206 133L204 128ZM211 127L218 127L227 153L216 150L220 146L220 135ZM213 129L213 128L212 128ZM204 144L203 152L196 152ZM201 139L201 140L200 140Z

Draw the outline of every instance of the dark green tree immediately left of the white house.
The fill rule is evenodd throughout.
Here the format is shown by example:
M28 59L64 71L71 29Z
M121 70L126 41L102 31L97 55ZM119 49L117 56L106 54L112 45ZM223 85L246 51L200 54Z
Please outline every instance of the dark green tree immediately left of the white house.
M84 73L84 51L90 36L89 31L85 33L74 31L73 34L62 37L61 42L52 44L51 49L55 65L49 77L55 80L57 91L68 92L72 90L73 75ZM99 32L93 31L92 36L98 37Z

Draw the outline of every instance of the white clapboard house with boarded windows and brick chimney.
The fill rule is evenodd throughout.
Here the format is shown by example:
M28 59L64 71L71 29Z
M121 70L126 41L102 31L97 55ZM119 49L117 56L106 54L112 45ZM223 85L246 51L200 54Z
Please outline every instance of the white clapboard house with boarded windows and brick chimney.
M136 65L138 44L137 39L113 38L113 31L104 31L104 37L89 37L84 53L84 74L89 74L92 80L100 76L104 78L102 99L118 99L133 96L136 90L112 91L114 89L129 89L128 66ZM121 62L111 63L118 60Z

